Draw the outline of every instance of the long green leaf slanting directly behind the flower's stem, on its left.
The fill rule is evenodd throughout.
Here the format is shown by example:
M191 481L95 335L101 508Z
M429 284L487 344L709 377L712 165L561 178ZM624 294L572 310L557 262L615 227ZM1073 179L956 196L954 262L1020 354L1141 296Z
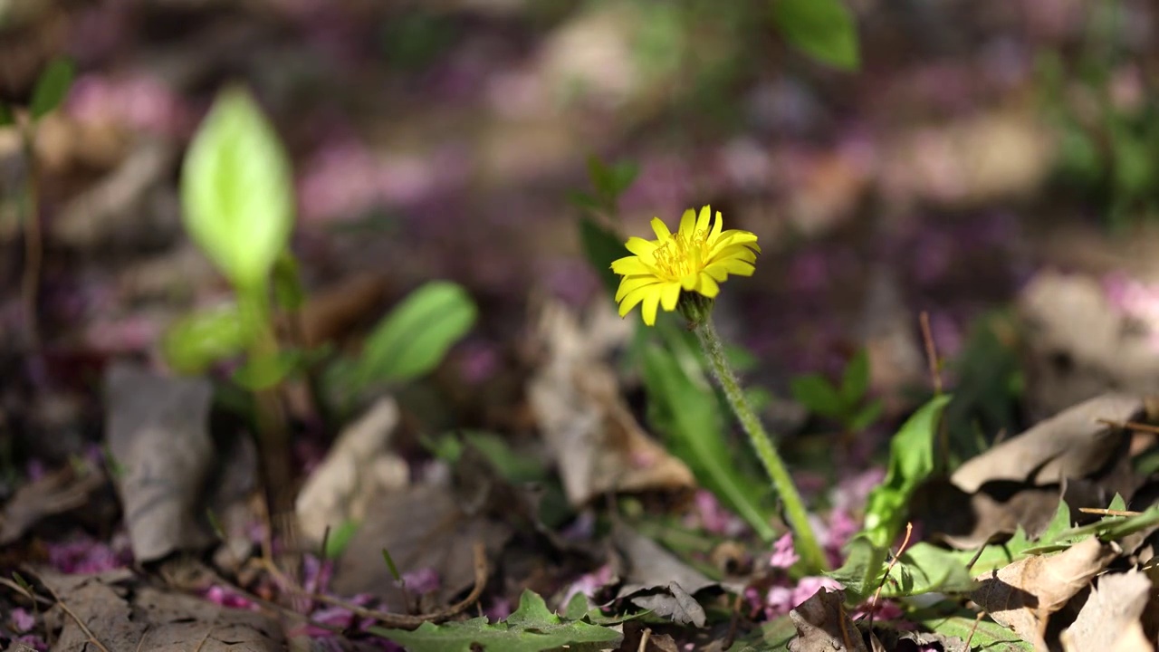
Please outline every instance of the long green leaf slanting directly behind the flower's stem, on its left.
M668 434L672 452L697 479L744 519L760 537L772 541L770 514L760 507L764 490L743 476L730 456L720 404L712 390L697 386L666 349L640 345L644 387L653 426Z

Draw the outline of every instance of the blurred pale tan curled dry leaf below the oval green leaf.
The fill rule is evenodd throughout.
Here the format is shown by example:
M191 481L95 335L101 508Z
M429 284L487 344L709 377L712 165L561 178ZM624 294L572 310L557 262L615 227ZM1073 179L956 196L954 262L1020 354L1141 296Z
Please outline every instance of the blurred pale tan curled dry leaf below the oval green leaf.
M394 399L381 398L342 430L298 493L294 507L305 541L318 544L328 527L362 521L379 493L407 485L406 461L388 449L399 416Z

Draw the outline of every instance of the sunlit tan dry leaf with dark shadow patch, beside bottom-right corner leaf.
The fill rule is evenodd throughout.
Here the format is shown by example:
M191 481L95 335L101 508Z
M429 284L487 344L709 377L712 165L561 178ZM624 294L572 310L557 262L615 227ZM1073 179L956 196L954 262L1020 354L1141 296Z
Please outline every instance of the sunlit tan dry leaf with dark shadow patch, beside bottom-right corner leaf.
M1047 650L1044 632L1051 614L1066 606L1120 553L1114 544L1088 538L1051 556L1020 559L976 578L970 597L998 623L1014 630L1037 650Z

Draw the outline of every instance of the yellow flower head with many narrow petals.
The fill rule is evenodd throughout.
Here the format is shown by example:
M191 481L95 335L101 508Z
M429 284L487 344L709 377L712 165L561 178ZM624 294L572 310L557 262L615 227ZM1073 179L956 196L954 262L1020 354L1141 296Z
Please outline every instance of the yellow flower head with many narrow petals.
M624 276L615 292L620 317L642 303L644 324L653 326L657 306L676 310L680 291L714 298L720 292L717 283L729 274L752 276L760 253L757 236L738 229L723 231L720 211L714 220L710 215L708 207L700 209L699 217L692 209L684 211L676 233L654 217L655 240L628 238L625 246L635 255L612 263L612 271Z

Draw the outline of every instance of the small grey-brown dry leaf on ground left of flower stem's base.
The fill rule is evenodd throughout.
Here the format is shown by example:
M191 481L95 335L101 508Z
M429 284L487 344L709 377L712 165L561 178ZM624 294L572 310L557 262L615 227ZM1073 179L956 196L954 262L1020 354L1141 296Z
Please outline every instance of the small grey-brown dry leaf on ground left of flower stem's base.
M618 599L630 597L634 604L680 624L704 626L705 609L692 596L716 582L627 527L617 528L612 538L625 566Z

